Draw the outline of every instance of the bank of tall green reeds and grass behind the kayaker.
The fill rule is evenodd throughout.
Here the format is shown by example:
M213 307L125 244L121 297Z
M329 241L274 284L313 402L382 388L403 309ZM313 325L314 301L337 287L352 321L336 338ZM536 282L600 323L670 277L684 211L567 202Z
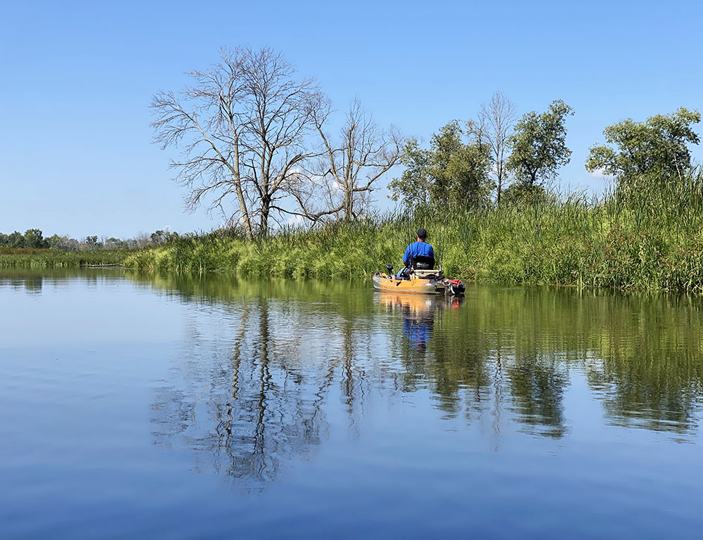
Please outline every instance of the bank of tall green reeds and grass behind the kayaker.
M249 242L224 231L137 252L125 266L240 276L368 278L424 226L465 280L703 292L703 190L678 184L593 202L578 195L477 212L387 216Z

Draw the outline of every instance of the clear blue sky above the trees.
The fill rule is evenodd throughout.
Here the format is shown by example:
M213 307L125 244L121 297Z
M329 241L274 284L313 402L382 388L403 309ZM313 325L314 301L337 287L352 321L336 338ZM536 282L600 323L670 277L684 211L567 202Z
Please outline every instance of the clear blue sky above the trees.
M218 226L183 211L148 105L221 46L271 46L337 108L359 96L379 124L425 141L495 91L520 115L562 99L576 114L561 183L602 191L583 162L605 126L703 107L702 6L0 0L0 231L127 238Z

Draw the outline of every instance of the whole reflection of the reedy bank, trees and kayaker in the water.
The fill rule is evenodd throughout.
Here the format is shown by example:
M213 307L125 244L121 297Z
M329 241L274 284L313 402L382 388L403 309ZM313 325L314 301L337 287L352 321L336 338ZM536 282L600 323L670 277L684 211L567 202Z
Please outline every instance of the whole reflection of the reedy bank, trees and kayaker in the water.
M197 451L196 468L249 489L314 454L330 414L359 437L367 403L420 390L444 418L489 425L494 450L511 430L566 437L580 413L565 405L574 378L605 423L690 440L700 422L695 298L475 288L445 300L347 283L132 278L204 308L200 337L155 398L155 442ZM226 338L203 338L213 328Z

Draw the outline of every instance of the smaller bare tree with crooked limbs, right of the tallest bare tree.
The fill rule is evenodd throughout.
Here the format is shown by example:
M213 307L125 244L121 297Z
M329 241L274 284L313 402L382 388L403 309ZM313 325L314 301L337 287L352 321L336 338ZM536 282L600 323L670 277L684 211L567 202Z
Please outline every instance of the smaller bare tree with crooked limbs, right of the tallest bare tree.
M298 202L305 217L313 221L325 216L352 221L368 208L378 179L398 161L401 140L394 128L382 131L355 98L349 103L340 129L340 143L334 144L325 133L329 115L328 101L323 100L314 108L313 120L323 157L314 169L307 171L304 179L312 191L305 200L299 197Z

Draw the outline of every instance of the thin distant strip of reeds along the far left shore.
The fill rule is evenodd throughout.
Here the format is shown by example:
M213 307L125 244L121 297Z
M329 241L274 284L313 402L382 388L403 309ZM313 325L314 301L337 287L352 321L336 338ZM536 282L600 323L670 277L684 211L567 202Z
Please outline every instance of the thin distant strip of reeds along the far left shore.
M0 247L0 267L41 268L122 264L125 257L132 253L134 251L129 250L63 251Z

